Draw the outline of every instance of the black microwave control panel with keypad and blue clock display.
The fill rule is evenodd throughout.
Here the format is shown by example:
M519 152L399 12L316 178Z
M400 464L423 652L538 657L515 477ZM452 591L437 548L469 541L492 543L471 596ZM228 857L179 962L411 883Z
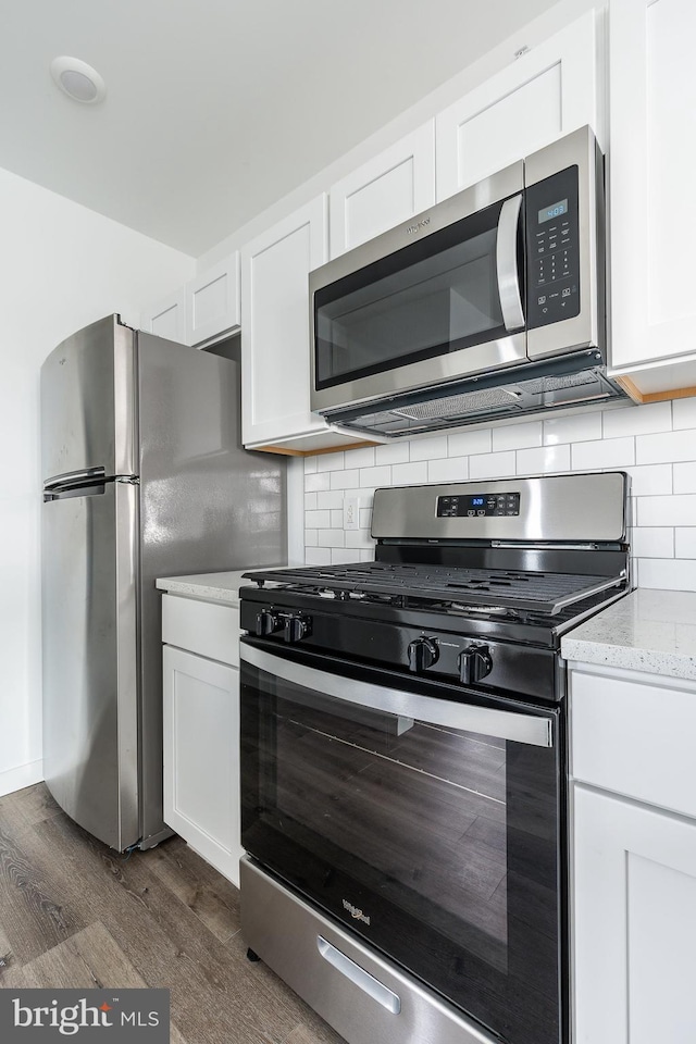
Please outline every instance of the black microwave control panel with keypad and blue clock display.
M525 191L527 326L580 314L577 167Z

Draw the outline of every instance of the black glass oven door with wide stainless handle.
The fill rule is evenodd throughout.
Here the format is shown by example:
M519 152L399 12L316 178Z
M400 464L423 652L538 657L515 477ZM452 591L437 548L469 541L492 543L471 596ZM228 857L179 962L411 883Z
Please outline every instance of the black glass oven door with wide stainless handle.
M243 638L244 848L504 1041L558 1044L559 710L330 664Z

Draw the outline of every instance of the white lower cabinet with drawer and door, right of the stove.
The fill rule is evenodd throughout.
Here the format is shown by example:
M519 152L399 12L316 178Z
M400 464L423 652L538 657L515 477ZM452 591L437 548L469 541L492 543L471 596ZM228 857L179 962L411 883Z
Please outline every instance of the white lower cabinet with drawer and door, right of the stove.
M571 671L573 1044L693 1044L693 682Z

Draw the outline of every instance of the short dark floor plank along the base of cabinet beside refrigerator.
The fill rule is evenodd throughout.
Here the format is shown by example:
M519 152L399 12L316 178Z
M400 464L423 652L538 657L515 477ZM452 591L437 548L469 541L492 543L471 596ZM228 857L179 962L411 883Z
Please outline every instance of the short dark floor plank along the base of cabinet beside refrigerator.
M148 869L198 917L221 942L238 932L239 891L204 859L174 837L145 853Z

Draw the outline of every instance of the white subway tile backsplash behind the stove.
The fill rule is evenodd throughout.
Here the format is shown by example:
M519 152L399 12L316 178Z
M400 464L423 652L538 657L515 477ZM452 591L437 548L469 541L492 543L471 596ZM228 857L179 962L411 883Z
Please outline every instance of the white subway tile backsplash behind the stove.
M374 558L377 486L569 471L632 477L634 580L696 591L696 398L326 453L304 460L304 556L312 564ZM360 498L360 529L345 530L344 497Z

